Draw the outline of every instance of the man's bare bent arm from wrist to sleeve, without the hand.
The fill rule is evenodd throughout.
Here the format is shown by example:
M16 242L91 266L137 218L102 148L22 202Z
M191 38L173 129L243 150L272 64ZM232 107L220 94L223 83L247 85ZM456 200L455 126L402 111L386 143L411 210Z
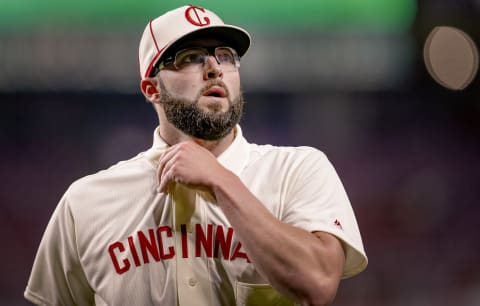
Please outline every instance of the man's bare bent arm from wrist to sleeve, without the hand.
M256 269L277 290L305 305L333 299L344 264L336 238L282 223L231 172L212 190Z

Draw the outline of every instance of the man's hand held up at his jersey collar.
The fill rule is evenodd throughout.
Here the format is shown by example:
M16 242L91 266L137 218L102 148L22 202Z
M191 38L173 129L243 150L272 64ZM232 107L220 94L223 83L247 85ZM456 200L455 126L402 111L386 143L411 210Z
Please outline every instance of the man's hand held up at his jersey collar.
M168 148L160 157L158 191L166 192L172 182L211 192L215 178L226 169L215 156L195 143L185 141Z

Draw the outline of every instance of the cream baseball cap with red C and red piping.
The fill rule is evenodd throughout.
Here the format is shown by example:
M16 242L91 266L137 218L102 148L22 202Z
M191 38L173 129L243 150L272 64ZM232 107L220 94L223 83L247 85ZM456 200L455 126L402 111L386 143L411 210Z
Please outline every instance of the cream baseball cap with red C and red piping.
M196 38L215 38L234 48L241 57L250 47L250 34L225 24L215 13L194 5L171 10L145 27L139 46L140 77L150 77L153 67L167 50Z

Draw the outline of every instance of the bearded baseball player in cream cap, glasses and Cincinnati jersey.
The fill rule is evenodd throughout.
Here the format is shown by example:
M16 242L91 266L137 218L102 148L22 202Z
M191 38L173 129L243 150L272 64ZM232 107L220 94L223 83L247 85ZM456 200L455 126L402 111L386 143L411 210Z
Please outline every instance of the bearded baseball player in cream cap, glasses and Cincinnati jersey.
M72 184L25 297L45 305L326 305L367 258L343 186L308 147L238 125L249 34L185 6L146 27L152 148Z

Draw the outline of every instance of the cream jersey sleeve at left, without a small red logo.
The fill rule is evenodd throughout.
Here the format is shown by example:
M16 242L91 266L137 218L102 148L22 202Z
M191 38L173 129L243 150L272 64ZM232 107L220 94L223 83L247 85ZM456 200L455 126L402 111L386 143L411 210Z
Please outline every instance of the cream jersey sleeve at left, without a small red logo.
M94 305L80 265L75 221L64 196L40 242L24 296L37 305Z

